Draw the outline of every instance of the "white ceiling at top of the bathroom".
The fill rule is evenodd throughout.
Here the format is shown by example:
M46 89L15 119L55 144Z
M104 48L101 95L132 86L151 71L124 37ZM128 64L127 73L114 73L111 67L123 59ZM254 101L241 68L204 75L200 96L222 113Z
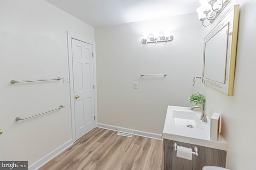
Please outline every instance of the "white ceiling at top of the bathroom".
M93 27L196 12L199 0L45 0Z

